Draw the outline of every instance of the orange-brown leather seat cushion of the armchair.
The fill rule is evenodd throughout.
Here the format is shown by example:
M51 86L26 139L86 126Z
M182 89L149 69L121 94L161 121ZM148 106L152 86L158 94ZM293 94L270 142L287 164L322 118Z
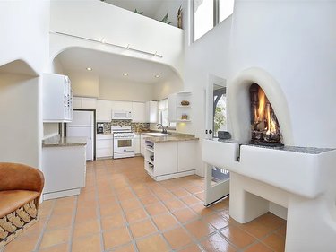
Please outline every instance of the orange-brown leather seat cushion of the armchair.
M26 190L0 191L0 218L39 197L38 192Z

